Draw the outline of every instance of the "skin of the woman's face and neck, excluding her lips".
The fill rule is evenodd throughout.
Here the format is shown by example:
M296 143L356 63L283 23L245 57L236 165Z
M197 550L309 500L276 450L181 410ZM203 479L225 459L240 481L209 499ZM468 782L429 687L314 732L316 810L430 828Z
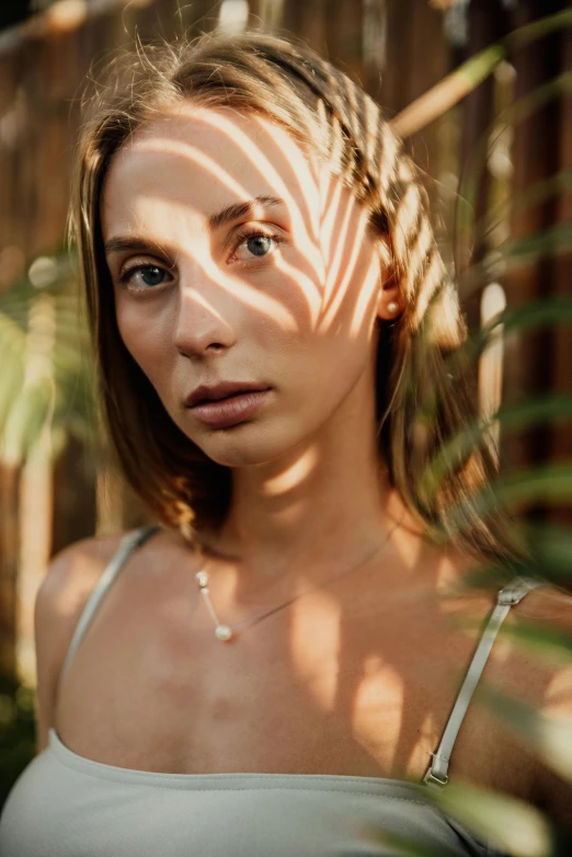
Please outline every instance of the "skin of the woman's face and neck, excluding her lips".
M260 202L211 222L247 201ZM389 526L375 322L400 296L350 191L272 123L185 104L122 148L102 225L127 348L176 425L232 468L217 549L274 583L365 558ZM213 430L184 400L222 380L271 393L247 422Z

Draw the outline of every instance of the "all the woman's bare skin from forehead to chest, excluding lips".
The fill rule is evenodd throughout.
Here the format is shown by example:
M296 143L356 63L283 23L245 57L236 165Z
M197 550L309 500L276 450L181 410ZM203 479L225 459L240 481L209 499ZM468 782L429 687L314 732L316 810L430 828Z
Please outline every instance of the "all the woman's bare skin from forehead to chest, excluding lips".
M123 341L188 442L230 468L232 498L204 558L170 529L127 562L65 677L58 734L140 770L419 780L492 601L441 597L471 562L424 537L379 457L378 338L405 309L386 244L313 149L192 102L122 146L101 220ZM242 424L213 428L185 399L220 381L270 392ZM69 637L116 549L94 540L71 570L62 561ZM194 578L204 562L231 626L304 597L220 643ZM552 673L510 643L484 677L550 702ZM46 720L39 733L45 745ZM454 766L519 797L536 777L479 705Z

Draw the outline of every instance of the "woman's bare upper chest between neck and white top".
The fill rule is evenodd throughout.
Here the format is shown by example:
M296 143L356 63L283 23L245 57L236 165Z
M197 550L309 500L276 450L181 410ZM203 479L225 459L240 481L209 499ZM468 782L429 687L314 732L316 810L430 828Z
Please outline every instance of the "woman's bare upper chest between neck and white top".
M56 728L79 755L140 770L420 779L474 648L421 604L356 616L316 594L222 643L198 601L126 612L119 595L65 676ZM506 749L494 730L469 711L459 776L491 784Z

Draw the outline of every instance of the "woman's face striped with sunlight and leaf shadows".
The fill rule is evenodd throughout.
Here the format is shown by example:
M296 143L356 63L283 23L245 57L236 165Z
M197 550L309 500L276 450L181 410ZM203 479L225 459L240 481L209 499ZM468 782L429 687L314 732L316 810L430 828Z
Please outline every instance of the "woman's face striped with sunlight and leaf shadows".
M378 249L285 130L186 103L122 147L101 216L123 341L208 457L263 464L373 414Z

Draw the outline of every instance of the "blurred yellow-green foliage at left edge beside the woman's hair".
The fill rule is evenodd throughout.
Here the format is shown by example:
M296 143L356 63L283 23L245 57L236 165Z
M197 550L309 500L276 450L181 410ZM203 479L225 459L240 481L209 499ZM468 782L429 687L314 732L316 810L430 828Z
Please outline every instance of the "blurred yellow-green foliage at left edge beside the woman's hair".
M56 456L68 436L95 450L89 334L68 253L46 258L49 278L22 277L0 294L0 449L18 465L43 434ZM34 265L31 266L33 271Z

